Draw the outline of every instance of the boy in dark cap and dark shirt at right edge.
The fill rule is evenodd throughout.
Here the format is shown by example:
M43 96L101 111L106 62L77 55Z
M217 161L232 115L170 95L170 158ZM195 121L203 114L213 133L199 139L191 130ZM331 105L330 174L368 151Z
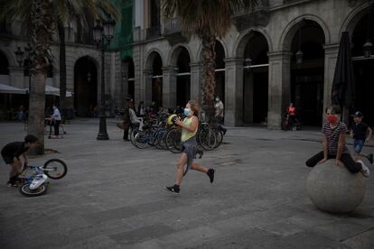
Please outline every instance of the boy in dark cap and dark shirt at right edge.
M373 154L369 153L367 156L361 154L362 147L365 142L369 142L373 131L368 124L362 122L363 115L360 111L355 112L353 115L353 124L351 129L351 138L353 138L353 151L355 160L365 157L369 162L373 163Z

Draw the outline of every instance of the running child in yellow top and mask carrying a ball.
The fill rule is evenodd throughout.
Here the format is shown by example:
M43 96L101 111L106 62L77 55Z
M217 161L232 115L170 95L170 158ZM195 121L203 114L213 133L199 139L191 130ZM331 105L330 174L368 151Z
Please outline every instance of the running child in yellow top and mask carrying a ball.
M189 169L206 173L210 178L210 183L212 183L214 180L213 169L207 169L193 161L193 159L196 158L196 153L198 152L196 133L199 126L199 111L200 107L198 102L195 100L190 100L184 108L183 112L186 117L183 119L183 121L179 118L175 120L175 124L182 127L181 142L183 149L177 163L175 183L173 186L164 187L164 189L176 194L180 192L182 178L186 175ZM183 168L185 165L186 169L184 170Z

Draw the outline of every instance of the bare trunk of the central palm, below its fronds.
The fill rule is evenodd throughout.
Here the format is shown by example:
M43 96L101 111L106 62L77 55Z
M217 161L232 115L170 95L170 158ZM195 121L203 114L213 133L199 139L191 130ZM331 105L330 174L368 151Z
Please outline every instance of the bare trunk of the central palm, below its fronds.
M214 92L216 89L215 60L216 51L214 50L215 37L202 37L202 108L210 124L216 124L214 113Z

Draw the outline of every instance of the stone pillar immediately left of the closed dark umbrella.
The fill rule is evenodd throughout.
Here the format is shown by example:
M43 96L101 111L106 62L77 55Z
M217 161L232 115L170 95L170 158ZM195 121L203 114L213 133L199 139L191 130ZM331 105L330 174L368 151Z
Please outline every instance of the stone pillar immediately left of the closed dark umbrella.
M323 111L332 105L332 81L338 60L339 43L328 44L324 47L324 79L323 79ZM323 121L322 121L323 122Z

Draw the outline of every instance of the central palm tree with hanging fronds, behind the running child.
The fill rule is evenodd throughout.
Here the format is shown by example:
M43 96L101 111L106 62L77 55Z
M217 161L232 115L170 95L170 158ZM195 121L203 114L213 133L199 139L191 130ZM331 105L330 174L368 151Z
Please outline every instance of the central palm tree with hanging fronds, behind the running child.
M202 107L210 123L214 121L213 98L216 88L214 47L217 38L223 38L231 27L231 15L238 9L251 10L257 0L161 0L165 20L175 16L182 21L184 33L201 39Z

